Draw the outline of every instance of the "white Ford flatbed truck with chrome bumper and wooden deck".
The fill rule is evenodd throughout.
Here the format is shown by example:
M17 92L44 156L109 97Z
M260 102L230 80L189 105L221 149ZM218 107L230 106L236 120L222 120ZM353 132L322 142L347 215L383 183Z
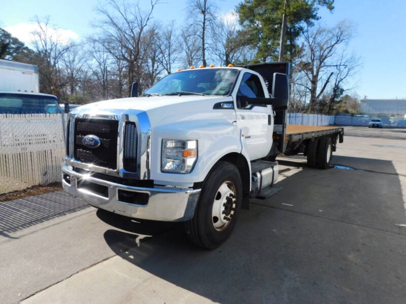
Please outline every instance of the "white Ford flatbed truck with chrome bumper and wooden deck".
M213 249L249 199L266 198L279 153L327 168L343 128L287 126L288 63L188 69L141 97L74 109L66 131L64 189L121 215L184 221Z

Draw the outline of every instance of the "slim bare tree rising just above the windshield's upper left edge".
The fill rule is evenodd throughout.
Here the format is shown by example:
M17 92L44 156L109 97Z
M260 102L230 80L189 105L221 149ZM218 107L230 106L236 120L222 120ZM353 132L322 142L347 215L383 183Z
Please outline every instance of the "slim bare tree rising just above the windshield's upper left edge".
M167 74L172 72L172 67L179 57L179 37L176 34L175 22L172 21L158 36L159 56L158 61Z

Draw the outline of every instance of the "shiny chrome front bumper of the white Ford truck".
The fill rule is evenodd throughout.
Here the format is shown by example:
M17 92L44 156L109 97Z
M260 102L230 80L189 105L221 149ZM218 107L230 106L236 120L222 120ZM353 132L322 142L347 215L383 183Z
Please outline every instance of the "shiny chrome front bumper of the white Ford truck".
M188 188L144 188L127 186L94 178L73 171L72 167L62 164L62 172L70 176L70 184L63 178L62 186L66 192L80 197L89 205L105 209L121 215L150 220L185 221L193 217L194 209L200 194L200 189ZM108 187L108 197L101 196L86 188L78 188L78 181L85 179L98 185ZM146 205L137 205L118 200L118 190L138 192L149 195Z

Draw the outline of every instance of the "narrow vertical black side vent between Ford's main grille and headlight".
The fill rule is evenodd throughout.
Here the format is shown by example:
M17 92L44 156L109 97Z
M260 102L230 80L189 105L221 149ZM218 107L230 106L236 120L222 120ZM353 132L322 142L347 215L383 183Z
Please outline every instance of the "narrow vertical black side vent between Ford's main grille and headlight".
M137 172L137 126L127 122L124 129L123 168L129 172Z

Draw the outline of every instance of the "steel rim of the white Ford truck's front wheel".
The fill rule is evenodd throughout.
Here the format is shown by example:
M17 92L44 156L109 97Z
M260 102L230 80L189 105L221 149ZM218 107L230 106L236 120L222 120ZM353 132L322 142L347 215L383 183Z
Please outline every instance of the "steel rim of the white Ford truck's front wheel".
M212 223L217 231L225 230L235 211L235 186L231 181L223 182L216 191L212 208Z

